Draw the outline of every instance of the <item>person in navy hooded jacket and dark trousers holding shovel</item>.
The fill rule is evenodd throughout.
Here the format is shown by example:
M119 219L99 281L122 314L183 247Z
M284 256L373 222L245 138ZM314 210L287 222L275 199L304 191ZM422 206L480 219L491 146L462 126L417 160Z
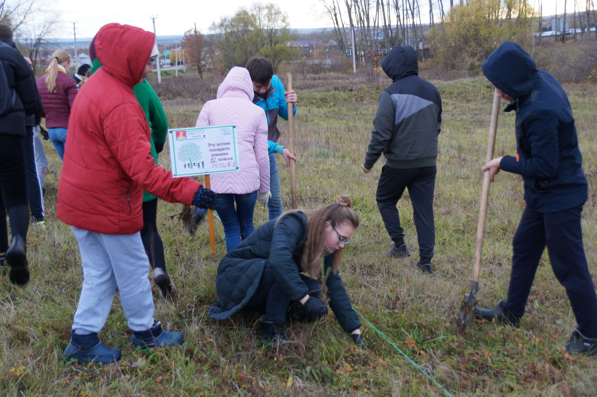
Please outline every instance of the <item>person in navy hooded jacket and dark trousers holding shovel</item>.
M597 354L597 296L584 255L580 217L587 180L570 102L559 82L516 43L502 44L482 65L496 95L516 111L516 156L485 164L519 174L527 207L512 240L512 274L507 301L493 309L475 308L483 319L518 326L545 247L553 273L566 288L577 328L566 343L571 353Z

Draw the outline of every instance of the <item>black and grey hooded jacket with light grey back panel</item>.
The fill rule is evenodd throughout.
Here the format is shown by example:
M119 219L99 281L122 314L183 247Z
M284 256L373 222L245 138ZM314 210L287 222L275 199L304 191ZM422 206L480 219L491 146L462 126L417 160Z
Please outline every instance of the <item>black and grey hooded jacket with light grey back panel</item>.
M383 153L388 167L432 167L442 122L439 91L418 76L417 53L410 45L392 48L381 69L393 84L379 97L363 165L371 170Z

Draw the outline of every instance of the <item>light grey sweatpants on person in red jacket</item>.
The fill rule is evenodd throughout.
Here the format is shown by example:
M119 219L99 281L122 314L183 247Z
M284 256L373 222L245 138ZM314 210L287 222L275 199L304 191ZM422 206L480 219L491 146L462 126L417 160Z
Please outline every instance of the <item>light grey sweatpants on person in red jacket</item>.
M116 287L122 310L133 331L153 326L153 296L149 259L139 232L107 235L72 227L83 263L83 288L72 329L79 334L99 333L106 323Z

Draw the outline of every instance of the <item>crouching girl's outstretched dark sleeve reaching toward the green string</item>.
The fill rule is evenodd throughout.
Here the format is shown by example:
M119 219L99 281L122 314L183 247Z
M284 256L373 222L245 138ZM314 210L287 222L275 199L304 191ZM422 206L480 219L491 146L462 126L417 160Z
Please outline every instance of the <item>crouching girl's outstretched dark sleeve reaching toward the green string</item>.
M355 310L352 310L352 304L344 289L344 285L342 285L340 273L334 274L332 272L333 258L334 254L331 254L324 259L324 275L327 276L325 284L328 286L328 303L334 315L336 315L340 327L347 333L351 333L361 328L361 321L356 315Z

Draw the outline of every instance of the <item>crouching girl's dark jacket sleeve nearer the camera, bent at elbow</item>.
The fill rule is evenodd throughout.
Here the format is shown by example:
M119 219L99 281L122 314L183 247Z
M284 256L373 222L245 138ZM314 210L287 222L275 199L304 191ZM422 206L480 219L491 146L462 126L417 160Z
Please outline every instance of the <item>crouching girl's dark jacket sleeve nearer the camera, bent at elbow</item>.
M306 231L304 224L294 214L278 220L273 229L272 245L267 266L272 266L273 275L282 291L291 300L301 300L308 293L293 258L294 251L303 244Z

